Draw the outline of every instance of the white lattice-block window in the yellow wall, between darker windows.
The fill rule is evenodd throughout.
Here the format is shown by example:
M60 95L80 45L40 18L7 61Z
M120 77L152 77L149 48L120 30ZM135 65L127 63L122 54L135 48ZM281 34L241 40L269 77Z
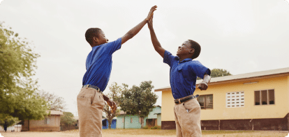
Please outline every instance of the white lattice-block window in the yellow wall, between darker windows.
M225 93L225 105L227 108L239 108L245 105L244 91Z

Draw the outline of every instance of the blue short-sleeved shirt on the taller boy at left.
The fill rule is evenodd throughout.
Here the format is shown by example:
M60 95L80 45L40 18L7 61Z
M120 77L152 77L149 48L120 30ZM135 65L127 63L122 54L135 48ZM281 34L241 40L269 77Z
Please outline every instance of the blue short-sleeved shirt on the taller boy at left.
M90 84L105 90L112 72L112 54L121 48L121 38L103 45L92 47L87 56L87 72L82 79L82 86Z

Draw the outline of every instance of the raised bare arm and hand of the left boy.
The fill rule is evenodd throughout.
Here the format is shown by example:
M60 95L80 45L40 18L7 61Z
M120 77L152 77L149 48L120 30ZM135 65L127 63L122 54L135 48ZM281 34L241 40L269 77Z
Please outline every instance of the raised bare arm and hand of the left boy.
M133 38L141 29L142 27L147 24L147 20L151 19L152 15L154 14L154 10L156 10L156 6L151 7L151 10L149 10L149 15L147 15L147 18L145 18L140 24L135 26L133 29L128 31L124 36L121 37L121 45L124 44L129 39Z

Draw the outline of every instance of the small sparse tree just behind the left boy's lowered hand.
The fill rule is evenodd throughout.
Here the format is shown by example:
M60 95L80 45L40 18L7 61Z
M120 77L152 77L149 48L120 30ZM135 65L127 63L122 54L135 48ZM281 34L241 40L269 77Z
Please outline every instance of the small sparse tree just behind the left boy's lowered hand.
M112 99L117 105L119 105L120 102L121 92L128 87L124 83L122 85L123 87L118 86L116 82L112 83L112 85L110 86L110 92L106 94L106 96L110 97L110 99ZM103 111L105 112L106 118L108 120L108 128L111 129L112 119L119 115L120 110L119 108L117 108L117 111L114 111L114 113L112 113L108 104L105 104L105 106L103 107Z

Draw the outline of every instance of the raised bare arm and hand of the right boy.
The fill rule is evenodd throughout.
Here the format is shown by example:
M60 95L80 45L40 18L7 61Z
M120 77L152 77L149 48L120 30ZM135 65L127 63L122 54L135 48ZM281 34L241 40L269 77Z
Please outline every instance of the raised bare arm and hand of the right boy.
M158 42L158 38L156 38L156 33L154 33L154 27L153 27L153 23L152 23L153 17L151 17L151 19L149 19L149 21L147 21L147 26L149 26L149 31L151 33L151 42L154 45L154 50L156 50L158 52L158 54L161 55L161 57L164 56L165 54L165 49L163 49L163 47L161 47L161 43Z

